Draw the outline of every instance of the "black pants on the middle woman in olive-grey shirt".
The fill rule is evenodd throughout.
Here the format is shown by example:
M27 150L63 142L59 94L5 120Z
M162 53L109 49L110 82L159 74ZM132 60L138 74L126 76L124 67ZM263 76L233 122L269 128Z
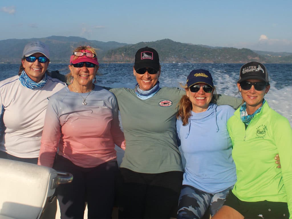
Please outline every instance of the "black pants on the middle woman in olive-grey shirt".
M120 168L119 218L176 217L183 172L137 173Z

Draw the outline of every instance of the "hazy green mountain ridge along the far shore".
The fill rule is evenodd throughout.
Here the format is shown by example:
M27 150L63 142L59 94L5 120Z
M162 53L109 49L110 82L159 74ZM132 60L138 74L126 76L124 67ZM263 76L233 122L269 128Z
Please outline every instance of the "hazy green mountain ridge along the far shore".
M292 53L252 51L246 48L212 47L180 43L171 39L126 44L115 41L88 40L77 36L0 40L0 48L2 51L5 51L0 53L0 63L20 63L25 44L33 40L43 41L49 46L50 61L52 63L68 63L73 48L80 45L90 45L98 48L98 61L100 63L133 63L136 51L145 46L157 50L161 63L245 63L252 60L263 63L292 63Z

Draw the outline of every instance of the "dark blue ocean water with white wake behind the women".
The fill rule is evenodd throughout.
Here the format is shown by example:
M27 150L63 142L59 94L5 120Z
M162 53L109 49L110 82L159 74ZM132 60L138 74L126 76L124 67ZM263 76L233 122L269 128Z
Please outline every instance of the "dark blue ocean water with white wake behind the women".
M185 84L187 75L193 69L206 69L211 72L217 93L239 96L236 81L242 64L189 64L162 63L160 86L180 87ZM20 64L0 64L0 81L18 73ZM292 127L292 64L266 64L271 88L265 95L270 107L286 117ZM61 74L69 73L68 64L50 64L49 71L59 70ZM136 84L133 76L133 64L101 63L96 84L106 87L133 88ZM121 162L123 151L117 148L118 161Z

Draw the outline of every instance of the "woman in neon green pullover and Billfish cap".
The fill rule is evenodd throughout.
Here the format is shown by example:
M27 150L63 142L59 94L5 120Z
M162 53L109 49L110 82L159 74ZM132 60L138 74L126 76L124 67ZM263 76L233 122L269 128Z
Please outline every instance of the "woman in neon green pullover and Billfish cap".
M291 218L290 123L264 99L270 84L262 63L243 65L237 87L244 104L227 122L237 182L213 218ZM277 153L281 169L271 165Z

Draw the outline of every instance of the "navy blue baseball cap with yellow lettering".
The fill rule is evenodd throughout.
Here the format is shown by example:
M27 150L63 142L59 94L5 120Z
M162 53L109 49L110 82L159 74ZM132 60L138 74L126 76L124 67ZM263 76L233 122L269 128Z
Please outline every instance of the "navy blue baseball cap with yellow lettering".
M187 87L197 83L206 83L211 87L214 87L212 75L205 69L192 70L187 76Z

